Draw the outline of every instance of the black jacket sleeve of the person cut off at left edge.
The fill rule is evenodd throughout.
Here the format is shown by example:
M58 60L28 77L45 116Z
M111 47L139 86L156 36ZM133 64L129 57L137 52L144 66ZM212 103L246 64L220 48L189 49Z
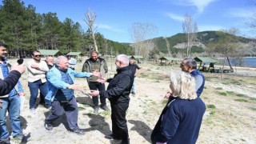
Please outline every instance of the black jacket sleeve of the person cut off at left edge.
M0 96L9 94L14 86L18 83L18 79L22 76L17 70L10 71L8 77L0 79Z

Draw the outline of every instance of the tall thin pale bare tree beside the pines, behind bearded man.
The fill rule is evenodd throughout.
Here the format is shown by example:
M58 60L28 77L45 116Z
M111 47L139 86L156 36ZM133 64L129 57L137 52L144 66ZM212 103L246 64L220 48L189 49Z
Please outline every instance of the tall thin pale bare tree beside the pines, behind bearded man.
M96 19L96 14L92 11L92 10L87 10L86 12L86 19L84 19L84 21L86 22L87 26L90 29L91 32L91 37L93 38L94 41L94 49L96 51L98 51L98 46L97 46L97 42L96 42L96 38L94 36L94 22Z

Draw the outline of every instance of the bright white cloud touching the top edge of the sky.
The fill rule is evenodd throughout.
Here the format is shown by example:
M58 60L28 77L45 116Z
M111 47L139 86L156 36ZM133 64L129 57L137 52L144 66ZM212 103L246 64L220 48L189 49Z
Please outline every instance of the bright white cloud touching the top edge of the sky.
M206 6L209 6L211 2L218 0L176 0L176 3L181 6L196 6L198 12L202 13Z

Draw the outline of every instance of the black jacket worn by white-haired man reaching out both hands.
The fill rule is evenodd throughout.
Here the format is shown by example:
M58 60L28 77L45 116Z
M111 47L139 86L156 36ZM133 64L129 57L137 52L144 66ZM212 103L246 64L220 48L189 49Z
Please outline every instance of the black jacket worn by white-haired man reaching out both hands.
M114 78L107 80L110 84L106 91L100 91L100 95L109 98L112 103L129 102L130 89L134 82L133 71L130 66L126 66L118 69L117 72Z

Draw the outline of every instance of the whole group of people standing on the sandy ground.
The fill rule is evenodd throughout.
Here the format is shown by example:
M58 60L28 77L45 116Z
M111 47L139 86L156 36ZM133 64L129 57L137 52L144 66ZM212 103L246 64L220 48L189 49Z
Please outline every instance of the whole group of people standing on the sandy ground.
M1 143L10 143L9 132L6 128L6 111L10 115L13 137L23 138L20 127L20 98L24 96L18 78L24 73L24 65L10 66L6 62L7 46L0 42L0 130ZM29 71L28 86L30 88L30 111L35 112L35 101L38 90L45 100L50 114L46 116L46 130L53 130L53 122L65 111L70 131L75 134L85 134L78 126L78 104L74 90L82 86L74 84L74 78L87 78L90 95L93 97L94 113L110 110L106 106L106 98L110 101L112 134L105 138L121 140L130 143L126 121L126 110L129 107L130 94L135 94L134 78L140 67L134 65L125 54L116 57L117 74L114 78L106 78L108 71L106 61L98 57L97 51L90 53L90 58L82 66L82 72L70 67L65 56L58 56L55 62L47 57L41 61L39 51L34 51L33 59L27 63ZM49 61L49 62L48 62ZM198 138L202 116L206 110L200 98L205 78L196 68L192 58L185 58L181 63L182 73L170 74L170 90L165 95L169 101L151 134L152 143L195 143ZM107 89L105 82L109 82ZM46 91L44 91L46 90ZM101 106L98 104L100 98Z

